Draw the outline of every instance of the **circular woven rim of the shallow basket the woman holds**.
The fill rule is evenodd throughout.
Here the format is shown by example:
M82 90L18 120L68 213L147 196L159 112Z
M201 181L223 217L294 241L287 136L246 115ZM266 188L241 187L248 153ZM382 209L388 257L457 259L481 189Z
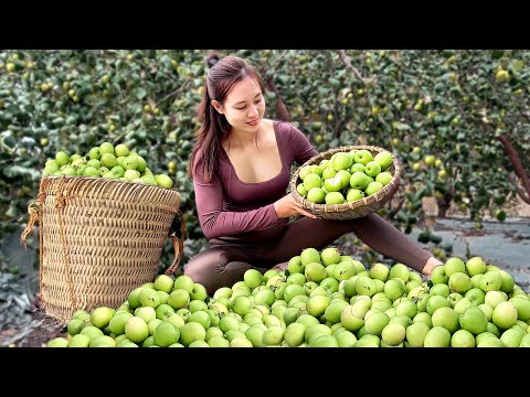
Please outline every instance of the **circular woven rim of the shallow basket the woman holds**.
M329 159L331 158L332 154L338 153L338 152L349 152L351 150L361 150L365 149L369 150L370 152L389 152L393 157L393 163L392 165L394 167L394 173L392 175L392 180L383 186L383 189L379 190L374 194L371 194L369 196L356 200L353 202L347 202L342 204L316 204L307 198L303 197L298 191L296 190L297 186L297 181L299 178L300 170L306 167L306 165L312 165L317 162L320 162L321 160ZM392 167L391 165L391 167ZM290 178L289 186L290 186L290 194L295 198L297 203L299 203L305 210L308 210L312 212L314 214L321 214L321 213L348 213L348 212L357 212L358 210L361 210L365 206L369 206L373 203L382 202L384 201L389 195L393 195L395 193L395 190L398 189L398 185L400 183L400 179L402 176L402 168L400 165L400 162L398 158L392 153L392 151L386 150L381 147L377 146L368 146L368 144L351 144L351 146L341 146L338 148L332 148L328 149L309 160L307 160L304 164L298 167L298 169L295 171L295 173Z

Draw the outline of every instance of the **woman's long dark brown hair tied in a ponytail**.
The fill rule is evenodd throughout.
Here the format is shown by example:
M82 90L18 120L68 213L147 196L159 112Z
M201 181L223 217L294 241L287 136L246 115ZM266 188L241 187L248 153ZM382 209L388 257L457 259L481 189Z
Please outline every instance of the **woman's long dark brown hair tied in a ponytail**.
M257 72L243 58L225 56L220 60L216 54L211 54L206 63L210 69L198 108L202 125L195 132L195 146L191 152L188 175L194 176L199 171L204 174L206 182L211 182L218 167L219 151L222 150L221 143L227 138L231 128L226 117L213 108L212 100L222 105L232 86L247 76L259 85L262 92L264 86Z

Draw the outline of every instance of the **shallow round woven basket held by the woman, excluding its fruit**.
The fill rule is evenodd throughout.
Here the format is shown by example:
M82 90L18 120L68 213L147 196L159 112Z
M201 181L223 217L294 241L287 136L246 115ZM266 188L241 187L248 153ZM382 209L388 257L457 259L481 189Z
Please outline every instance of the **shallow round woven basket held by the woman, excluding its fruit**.
M392 180L383 186L380 191L365 196L363 198L357 200L354 202L342 203L342 204L315 204L308 201L306 197L303 197L296 190L296 186L301 183L299 178L300 169L305 165L312 165L319 164L321 160L329 160L331 155L337 152L349 152L351 150L361 150L365 149L375 157L379 152L388 151L385 149L374 147L374 146L344 146L339 148L333 148L327 150L318 155L306 161L301 164L293 174L289 183L290 194L294 196L297 203L300 203L301 206L309 213L316 215L318 218L322 219L338 219L338 221L347 221L353 219L357 217L362 217L368 214L371 214L378 211L381 206L383 206L398 191L398 186L400 184L400 179L402 174L402 169L398 159L394 157L393 164L386 169L390 173L392 173Z

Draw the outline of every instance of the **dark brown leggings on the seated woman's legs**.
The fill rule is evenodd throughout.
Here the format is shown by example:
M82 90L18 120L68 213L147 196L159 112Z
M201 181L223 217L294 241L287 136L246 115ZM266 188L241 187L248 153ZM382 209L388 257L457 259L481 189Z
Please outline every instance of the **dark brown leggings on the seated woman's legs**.
M417 271L422 271L430 253L421 248L405 234L377 214L350 221L312 219L303 217L286 226L282 239L276 244L244 246L212 245L195 255L184 267L184 273L202 283L209 294L221 287L231 287L243 279L248 269L262 272L275 265L287 262L300 255L304 248L321 250L340 236L353 232L368 246ZM253 265L251 265L253 264Z

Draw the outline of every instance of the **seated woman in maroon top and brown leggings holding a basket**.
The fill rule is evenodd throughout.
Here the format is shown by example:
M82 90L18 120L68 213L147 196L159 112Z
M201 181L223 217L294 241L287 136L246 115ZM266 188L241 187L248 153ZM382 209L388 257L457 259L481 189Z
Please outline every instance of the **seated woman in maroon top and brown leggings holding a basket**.
M231 287L250 268L266 271L304 248L324 249L350 232L425 275L442 265L377 214L328 221L306 212L286 189L292 164L303 164L317 150L290 124L264 118L263 83L247 62L212 55L209 65L189 174L210 246L184 268L209 294Z

